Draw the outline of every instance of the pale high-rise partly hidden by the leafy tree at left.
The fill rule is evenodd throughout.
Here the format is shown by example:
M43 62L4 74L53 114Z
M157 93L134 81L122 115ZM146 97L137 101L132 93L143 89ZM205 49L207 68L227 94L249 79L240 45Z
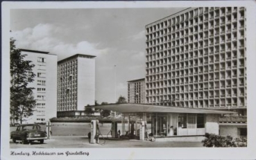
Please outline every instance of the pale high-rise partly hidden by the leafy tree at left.
M24 123L45 123L49 118L57 115L57 55L49 52L20 49L24 60L35 64L34 81L29 83L33 87L33 96L36 99L33 116L24 119Z

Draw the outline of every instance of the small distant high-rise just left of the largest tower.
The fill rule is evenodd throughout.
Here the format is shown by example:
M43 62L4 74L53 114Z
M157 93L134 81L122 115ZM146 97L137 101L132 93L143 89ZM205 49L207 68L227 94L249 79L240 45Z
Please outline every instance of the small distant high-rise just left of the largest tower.
M145 103L145 78L128 81L128 103Z

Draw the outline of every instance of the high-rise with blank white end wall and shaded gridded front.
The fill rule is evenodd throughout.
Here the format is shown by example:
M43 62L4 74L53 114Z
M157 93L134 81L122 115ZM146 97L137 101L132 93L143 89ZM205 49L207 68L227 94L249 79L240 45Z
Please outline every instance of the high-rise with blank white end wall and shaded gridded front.
M95 101L94 55L76 54L58 62L58 117L84 116Z

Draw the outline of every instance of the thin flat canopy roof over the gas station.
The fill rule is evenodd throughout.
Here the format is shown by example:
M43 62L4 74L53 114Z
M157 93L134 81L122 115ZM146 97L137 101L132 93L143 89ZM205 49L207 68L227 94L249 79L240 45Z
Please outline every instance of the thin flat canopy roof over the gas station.
M194 109L184 107L167 107L160 105L142 105L142 104L110 104L94 106L95 109L106 109L119 113L187 113L187 114L234 114L236 112L210 110L210 109Z

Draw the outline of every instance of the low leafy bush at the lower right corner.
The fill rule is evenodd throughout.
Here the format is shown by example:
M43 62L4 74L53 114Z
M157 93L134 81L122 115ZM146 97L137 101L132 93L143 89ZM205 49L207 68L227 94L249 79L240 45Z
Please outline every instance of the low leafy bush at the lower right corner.
M202 141L203 146L207 148L235 148L246 147L247 139L234 139L232 136L220 136L216 134L205 134L205 139Z

